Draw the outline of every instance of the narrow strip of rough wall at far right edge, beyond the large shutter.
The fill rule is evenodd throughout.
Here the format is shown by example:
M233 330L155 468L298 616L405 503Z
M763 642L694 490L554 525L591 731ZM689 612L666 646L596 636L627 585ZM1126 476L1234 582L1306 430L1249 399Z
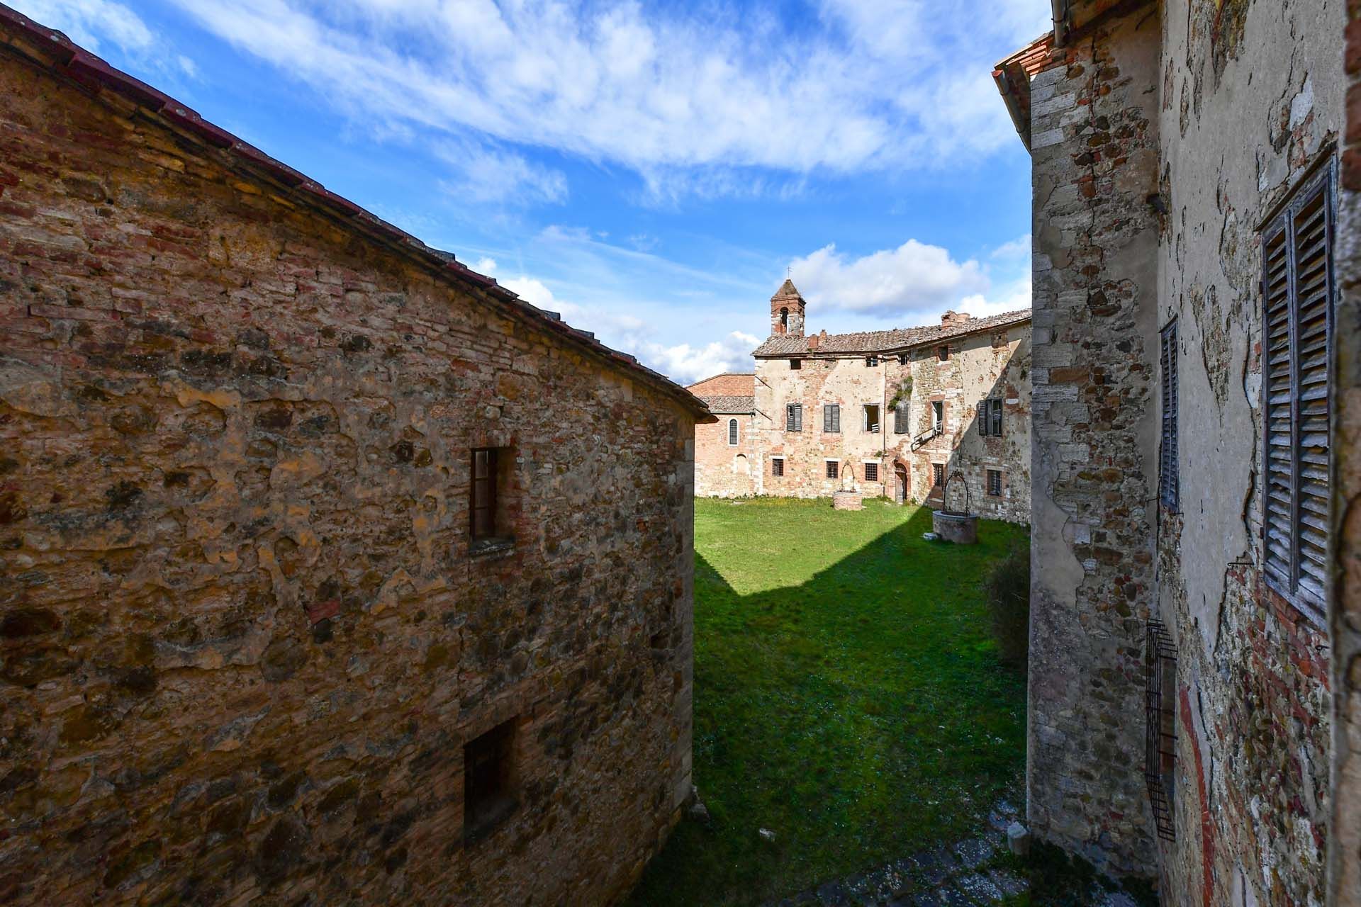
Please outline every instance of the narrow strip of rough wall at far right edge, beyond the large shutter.
M1328 23L1323 23L1324 27ZM1361 907L1361 3L1345 31L1345 120L1338 205L1332 525L1337 579L1332 630L1332 824L1330 903Z

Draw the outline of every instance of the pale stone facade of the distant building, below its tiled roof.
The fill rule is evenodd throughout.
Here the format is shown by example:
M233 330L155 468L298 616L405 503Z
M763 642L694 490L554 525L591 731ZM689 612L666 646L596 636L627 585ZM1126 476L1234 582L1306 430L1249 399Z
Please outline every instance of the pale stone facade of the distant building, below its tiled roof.
M940 362L936 344L909 351L906 363L897 354L878 356L840 354L803 359L791 369L787 358L757 359L757 445L761 494L826 498L838 488L866 495L904 496L939 504L932 496L931 466L939 462L947 475L965 476L974 511L989 519L1028 522L1030 513L1030 325L1018 324L996 332L953 337L950 356ZM896 431L893 401L912 379L909 427ZM980 437L977 403L1004 398L1004 434ZM945 431L917 450L912 439L931 427L932 401L945 408ZM785 404L803 404L803 431L785 431ZM841 407L841 431L825 432L822 408ZM879 407L879 431L864 430L864 405ZM773 476L772 457L784 457L784 476ZM838 464L838 477L827 479L826 461ZM864 479L864 465L879 466L879 480ZM896 466L908 479L901 495ZM1003 475L1000 496L987 494L987 470Z

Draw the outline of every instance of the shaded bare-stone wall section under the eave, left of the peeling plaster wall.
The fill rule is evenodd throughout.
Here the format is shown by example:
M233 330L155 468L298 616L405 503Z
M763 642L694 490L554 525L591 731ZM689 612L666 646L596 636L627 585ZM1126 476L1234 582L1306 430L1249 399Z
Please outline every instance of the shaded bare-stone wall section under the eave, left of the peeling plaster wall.
M1146 874L1158 52L1157 14L1143 10L1070 42L1030 86L1029 823Z

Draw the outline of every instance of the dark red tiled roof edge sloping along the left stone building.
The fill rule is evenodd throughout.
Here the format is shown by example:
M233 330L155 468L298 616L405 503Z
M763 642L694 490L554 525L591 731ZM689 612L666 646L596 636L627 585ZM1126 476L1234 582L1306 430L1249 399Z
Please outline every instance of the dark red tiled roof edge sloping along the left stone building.
M426 246L421 239L400 227L331 192L320 182L309 179L305 174L294 170L282 160L271 158L264 151L242 141L226 129L208 122L196 110L180 103L163 91L152 88L140 79L109 65L109 63L72 42L56 29L37 23L3 3L0 3L0 29L26 37L37 44L42 52L50 54L50 60L46 63L48 69L73 79L88 88L113 91L151 110L177 131L186 132L214 148L227 151L240 158L245 165L264 170L284 186L306 193L317 207L327 208L333 215L348 219L357 230L373 234L387 243L396 242L406 246L410 254L421 257L425 264L434 265L442 273L483 290L489 296L509 306L521 317L528 315L532 318L536 326L561 335L588 352L610 360L611 364L640 375L649 385L674 397L678 403L701 416L700 422L716 422L716 417L709 412L702 400L661 373L641 364L634 356L611 349L596 340L589 332L578 330L555 318L553 314L529 305L514 292L499 286L494 279L472 271L463 262L455 261L452 254L441 254ZM34 60L30 54L24 56L38 65L44 64L44 61Z

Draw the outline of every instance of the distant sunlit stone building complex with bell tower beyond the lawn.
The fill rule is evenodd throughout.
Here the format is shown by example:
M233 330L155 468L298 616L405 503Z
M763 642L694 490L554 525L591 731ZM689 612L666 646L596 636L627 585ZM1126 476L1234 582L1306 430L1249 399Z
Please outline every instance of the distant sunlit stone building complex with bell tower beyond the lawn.
M729 453L729 438L702 426L695 462L713 465L697 466L697 494L728 494L712 477L735 457L751 468L746 494L791 498L853 488L939 507L942 483L958 473L977 513L1029 519L1029 311L804 336L806 309L789 280L770 299L746 446ZM957 491L951 504L962 506Z

